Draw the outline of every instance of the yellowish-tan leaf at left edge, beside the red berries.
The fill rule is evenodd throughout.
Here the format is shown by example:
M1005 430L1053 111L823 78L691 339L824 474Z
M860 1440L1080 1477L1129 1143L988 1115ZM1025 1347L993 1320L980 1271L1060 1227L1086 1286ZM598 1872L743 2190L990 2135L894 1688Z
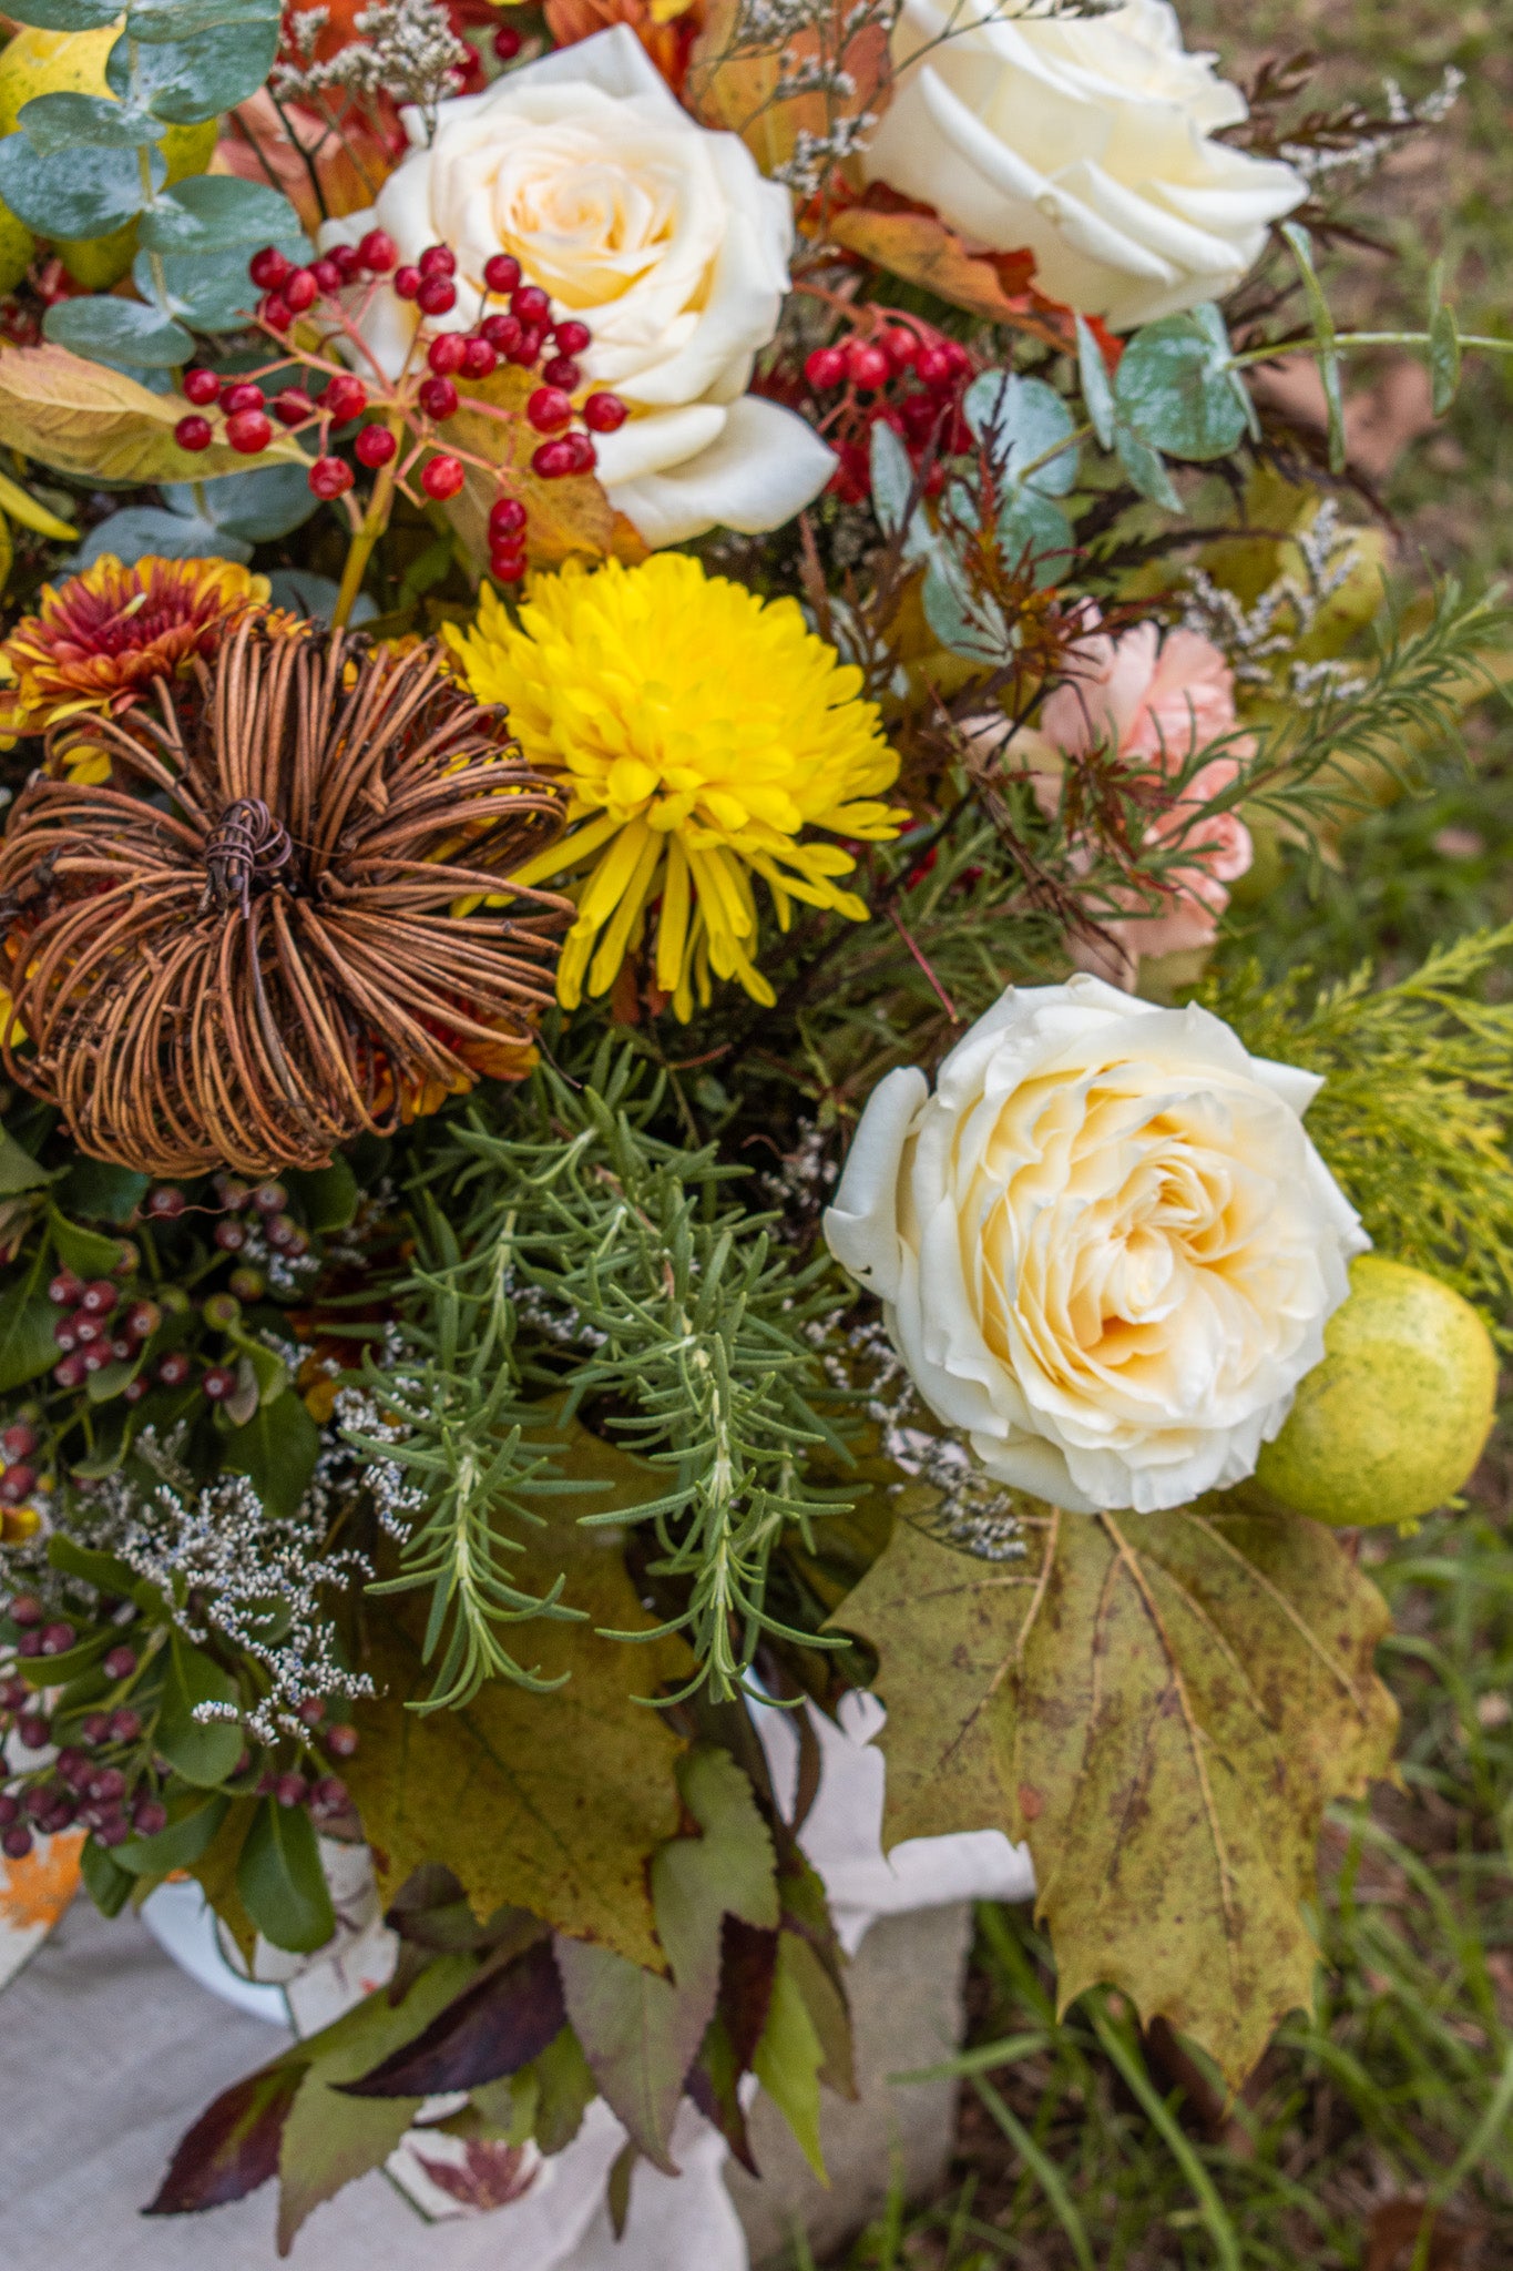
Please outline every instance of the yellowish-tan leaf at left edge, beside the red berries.
M209 481L247 472L250 459L227 443L179 450L172 429L179 395L154 395L122 370L88 363L68 347L0 352L0 443L54 472L84 481ZM304 463L299 443L277 434L259 466Z

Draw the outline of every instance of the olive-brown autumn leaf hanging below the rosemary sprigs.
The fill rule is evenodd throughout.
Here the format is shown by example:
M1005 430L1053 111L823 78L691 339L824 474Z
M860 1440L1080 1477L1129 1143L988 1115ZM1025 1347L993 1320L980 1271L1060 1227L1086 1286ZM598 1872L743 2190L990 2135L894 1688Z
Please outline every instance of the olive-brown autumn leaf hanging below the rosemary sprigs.
M553 1433L567 1447L563 1472L608 1481L619 1503L662 1488L656 1469L588 1431ZM379 1701L356 1706L363 1742L343 1774L386 1901L422 1862L445 1862L479 1917L529 1908L558 1933L660 1971L649 1862L678 1830L683 1744L637 1696L683 1685L692 1660L674 1637L628 1642L597 1631L644 1631L651 1619L626 1576L622 1542L574 1519L608 1510L615 1497L565 1503L572 1512L510 1562L526 1592L547 1592L567 1572L563 1599L585 1610L585 1621L533 1628L533 1660L544 1678L569 1674L565 1685L531 1694L490 1681L465 1710L406 1710L404 1699L424 1692L424 1601L374 1601L365 1669Z

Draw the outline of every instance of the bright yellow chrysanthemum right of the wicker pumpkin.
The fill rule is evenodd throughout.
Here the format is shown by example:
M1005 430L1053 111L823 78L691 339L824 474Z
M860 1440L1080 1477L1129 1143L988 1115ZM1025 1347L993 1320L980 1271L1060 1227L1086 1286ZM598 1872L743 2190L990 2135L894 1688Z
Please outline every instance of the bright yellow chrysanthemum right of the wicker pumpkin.
M517 877L563 877L576 897L565 1008L608 992L653 911L653 977L678 1017L694 992L708 1004L710 972L771 1004L753 877L783 929L794 899L867 917L837 883L853 854L805 831L896 836L907 813L873 799L898 759L862 672L796 600L758 600L660 552L538 577L519 625L485 588L472 631L447 638L479 699L508 704L526 763L569 790L567 836Z

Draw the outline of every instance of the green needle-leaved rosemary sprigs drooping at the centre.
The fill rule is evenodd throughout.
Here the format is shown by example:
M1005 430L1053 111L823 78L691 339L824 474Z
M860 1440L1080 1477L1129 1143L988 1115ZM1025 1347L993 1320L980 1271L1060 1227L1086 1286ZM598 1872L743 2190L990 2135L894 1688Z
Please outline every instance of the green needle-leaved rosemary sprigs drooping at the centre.
M445 1653L426 1708L458 1708L490 1676L540 1685L499 1628L572 1610L560 1585L510 1585L508 1522L540 1522L542 1490L583 1488L551 1463L549 1431L590 1401L667 1490L578 1519L649 1524L646 1574L681 1601L656 1633L608 1637L683 1633L699 1662L685 1694L708 1683L719 1701L746 1687L762 1633L814 1644L767 1612L764 1587L783 1531L812 1549L814 1517L848 1503L803 1472L810 1447L846 1456L808 1338L835 1306L828 1263L798 1265L771 1215L730 1204L742 1170L715 1147L653 1136L662 1083L637 1081L606 1042L583 1088L538 1072L510 1095L508 1133L472 1108L422 1170L431 1260L399 1290L397 1374L372 1372L404 1440L365 1447L424 1492L388 1590L431 1585L426 1656ZM549 1410L522 1401L531 1388L556 1394Z

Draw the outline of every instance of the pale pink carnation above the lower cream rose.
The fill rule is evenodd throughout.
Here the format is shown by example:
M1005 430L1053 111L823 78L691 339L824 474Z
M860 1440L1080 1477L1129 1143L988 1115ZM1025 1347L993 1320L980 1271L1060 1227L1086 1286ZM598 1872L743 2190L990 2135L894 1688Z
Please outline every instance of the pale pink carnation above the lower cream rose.
M1041 734L1064 756L1114 749L1148 779L1182 772L1234 727L1234 672L1218 647L1198 631L1161 638L1155 622L1118 638L1107 631L1084 638L1075 679L1059 686L1041 711ZM1243 759L1252 754L1254 740L1227 740L1225 754L1200 765L1150 824L1146 843L1152 849L1191 843L1191 858L1166 870L1155 913L1141 893L1114 893L1116 908L1127 913L1102 920L1107 942L1080 942L1080 967L1132 988L1141 954L1184 954L1214 942L1229 904L1227 886L1245 874L1254 847L1239 813L1209 813L1205 806L1234 786ZM1053 783L1046 788L1053 790Z

